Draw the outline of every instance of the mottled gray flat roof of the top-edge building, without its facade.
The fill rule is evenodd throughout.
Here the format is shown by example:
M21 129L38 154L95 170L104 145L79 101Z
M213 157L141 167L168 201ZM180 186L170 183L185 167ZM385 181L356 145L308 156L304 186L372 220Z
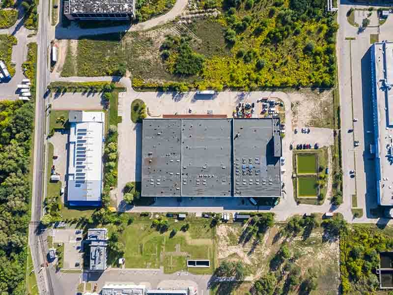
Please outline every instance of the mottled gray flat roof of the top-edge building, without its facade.
M134 13L134 0L68 0L67 4L66 13Z

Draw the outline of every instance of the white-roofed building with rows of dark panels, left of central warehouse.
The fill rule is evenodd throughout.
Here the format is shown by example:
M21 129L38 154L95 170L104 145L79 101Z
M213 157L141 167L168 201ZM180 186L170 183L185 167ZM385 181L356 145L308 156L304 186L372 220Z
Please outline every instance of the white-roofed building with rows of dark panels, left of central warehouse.
M101 206L103 112L70 111L67 202Z

